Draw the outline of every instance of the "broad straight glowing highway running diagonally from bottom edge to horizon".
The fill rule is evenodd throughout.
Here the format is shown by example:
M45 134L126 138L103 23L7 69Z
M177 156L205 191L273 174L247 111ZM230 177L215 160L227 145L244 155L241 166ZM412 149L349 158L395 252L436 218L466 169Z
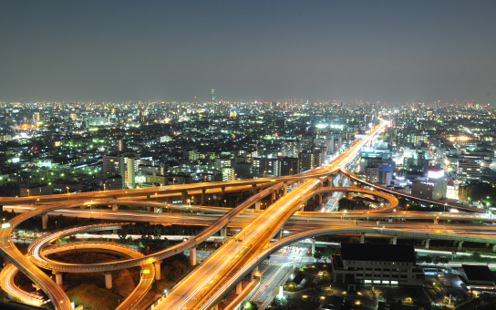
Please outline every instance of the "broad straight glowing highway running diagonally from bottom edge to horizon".
M221 286L229 279L228 274L243 266L249 256L261 251L280 227L284 225L284 222L307 200L310 192L322 185L324 180L320 179L320 177L326 178L345 166L356 156L357 151L386 125L387 123L383 123L377 126L366 139L354 142L352 149L343 152L332 163L326 164L315 171L305 173L305 175L314 179L305 181L280 200L274 202L250 225L244 228L241 233L234 236L236 243L237 240L242 241L239 247L234 246L233 240L224 243L196 268L195 272L189 274L180 284L176 285L167 298L160 300L156 308L182 310L192 309L196 305L202 307L207 305L207 300L211 297L212 292L217 292L215 294L218 294L219 290L224 291Z

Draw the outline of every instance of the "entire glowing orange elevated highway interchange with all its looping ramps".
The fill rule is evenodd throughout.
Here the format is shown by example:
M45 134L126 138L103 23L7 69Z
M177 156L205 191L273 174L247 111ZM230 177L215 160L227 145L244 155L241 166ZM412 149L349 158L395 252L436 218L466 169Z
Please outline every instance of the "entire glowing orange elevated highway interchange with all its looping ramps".
M151 305L151 309L206 310L216 308L225 294L233 288L238 289L243 277L256 270L257 265L268 255L284 245L317 235L357 233L361 236L362 242L366 235L383 235L391 237L393 243L396 243L398 237L409 237L424 239L427 244L430 239L453 240L458 241L459 244L468 241L496 244L496 238L492 237L495 233L492 225L437 224L439 221L454 218L461 221L492 221L486 215L479 214L480 210L477 208L449 205L450 208L458 208L470 213L398 211L398 196L405 196L404 193L361 181L356 175L346 171L346 166L356 159L358 151L370 143L386 126L387 122L382 122L371 130L366 138L356 140L350 149L325 166L292 176L160 186L137 190L0 198L0 203L5 205L5 209L10 208L19 212L19 215L9 222L9 227L5 227L0 232L0 252L12 263L0 274L0 284L9 294L18 296L26 303L39 305L41 301L37 296L22 292L13 283L14 274L21 271L47 293L57 309L71 309L70 300L59 285L62 283L63 273L102 272L106 273L107 280L107 274L112 270L140 266L144 271L141 273L140 284L137 285L133 294L130 294L126 301L119 305L119 309L132 309L150 290L153 279L160 279L161 260L189 250L191 263L196 264L196 246L208 240L214 233L221 232L221 235L225 236L226 228L231 227L237 232L233 238L223 243L217 251ZM329 186L332 182L331 177L336 173L352 181L360 182L365 188ZM230 191L249 191L251 196L234 208L202 206L208 195L215 194L223 197L226 192ZM362 212L301 211L305 203L314 196L322 202L322 194L332 191L374 197L380 202L380 207L377 210ZM268 205L265 210L260 210L261 201L265 197L272 197L272 204ZM280 198L276 199L276 197ZM417 199L416 197L408 198ZM172 204L174 200L179 200L181 203ZM109 205L111 210L92 210L91 205ZM119 205L147 208L150 212L120 211ZM252 206L254 208L249 209ZM182 213L181 210L187 212ZM146 256L116 243L69 243L48 246L62 236L119 229L122 223L92 225L47 234L30 244L27 255L20 253L11 239L15 227L33 216L42 216L43 222L46 223L48 216L57 214L106 220L119 219L119 222L182 223L206 227L201 233L181 243ZM398 222L395 219L416 219L418 222ZM433 224L430 224L429 228L424 221L433 222ZM432 225L436 225L435 228ZM284 237L283 228L293 233ZM277 241L274 242L274 240ZM71 247L88 251L98 249L98 251L119 253L125 258L113 263L88 265L61 263L47 257L48 253L67 251ZM53 281L40 268L56 274L56 281ZM111 286L111 277L107 286Z

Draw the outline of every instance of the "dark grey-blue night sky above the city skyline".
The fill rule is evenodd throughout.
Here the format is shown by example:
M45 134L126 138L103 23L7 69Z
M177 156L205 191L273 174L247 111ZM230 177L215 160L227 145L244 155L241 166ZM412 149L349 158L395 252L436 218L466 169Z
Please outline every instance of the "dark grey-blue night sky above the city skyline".
M496 104L496 1L0 1L0 101Z

